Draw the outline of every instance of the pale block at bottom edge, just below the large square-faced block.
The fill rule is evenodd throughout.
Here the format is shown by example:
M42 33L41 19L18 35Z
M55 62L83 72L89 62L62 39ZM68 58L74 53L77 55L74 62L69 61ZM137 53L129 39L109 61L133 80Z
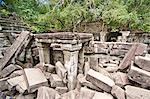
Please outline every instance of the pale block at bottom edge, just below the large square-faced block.
M61 99L61 97L54 89L42 86L38 89L36 99Z

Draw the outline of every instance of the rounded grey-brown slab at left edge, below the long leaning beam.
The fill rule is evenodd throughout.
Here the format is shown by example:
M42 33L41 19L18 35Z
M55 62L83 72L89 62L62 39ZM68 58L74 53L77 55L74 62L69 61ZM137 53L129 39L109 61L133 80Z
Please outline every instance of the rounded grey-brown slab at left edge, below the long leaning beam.
M10 64L9 66L7 66L6 68L4 68L4 69L0 72L0 76L3 77L3 78L4 78L4 77L7 77L7 76L10 75L13 71L19 70L19 69L21 69L20 66Z

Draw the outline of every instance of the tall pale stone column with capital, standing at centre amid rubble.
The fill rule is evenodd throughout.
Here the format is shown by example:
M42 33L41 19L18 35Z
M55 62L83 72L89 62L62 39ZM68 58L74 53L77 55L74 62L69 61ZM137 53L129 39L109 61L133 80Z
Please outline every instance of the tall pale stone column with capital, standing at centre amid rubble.
M63 45L63 54L64 54L64 65L67 69L68 75L68 89L73 90L76 87L77 82L77 68L78 68L78 54L81 49L82 44L72 45L64 44Z

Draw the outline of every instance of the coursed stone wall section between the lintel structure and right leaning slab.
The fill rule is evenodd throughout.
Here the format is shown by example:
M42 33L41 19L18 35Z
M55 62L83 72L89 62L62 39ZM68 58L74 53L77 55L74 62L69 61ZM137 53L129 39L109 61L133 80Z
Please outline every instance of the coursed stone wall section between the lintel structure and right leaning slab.
M132 43L97 42L85 48L85 59L91 67L104 67L106 70L116 71L125 54L132 47Z

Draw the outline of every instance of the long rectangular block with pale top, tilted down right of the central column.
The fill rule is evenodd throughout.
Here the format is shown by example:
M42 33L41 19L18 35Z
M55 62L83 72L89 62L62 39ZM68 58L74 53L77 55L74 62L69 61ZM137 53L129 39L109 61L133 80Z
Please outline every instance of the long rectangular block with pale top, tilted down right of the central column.
M92 69L88 71L86 75L86 80L106 92L110 92L112 86L115 85L114 81L111 78Z

